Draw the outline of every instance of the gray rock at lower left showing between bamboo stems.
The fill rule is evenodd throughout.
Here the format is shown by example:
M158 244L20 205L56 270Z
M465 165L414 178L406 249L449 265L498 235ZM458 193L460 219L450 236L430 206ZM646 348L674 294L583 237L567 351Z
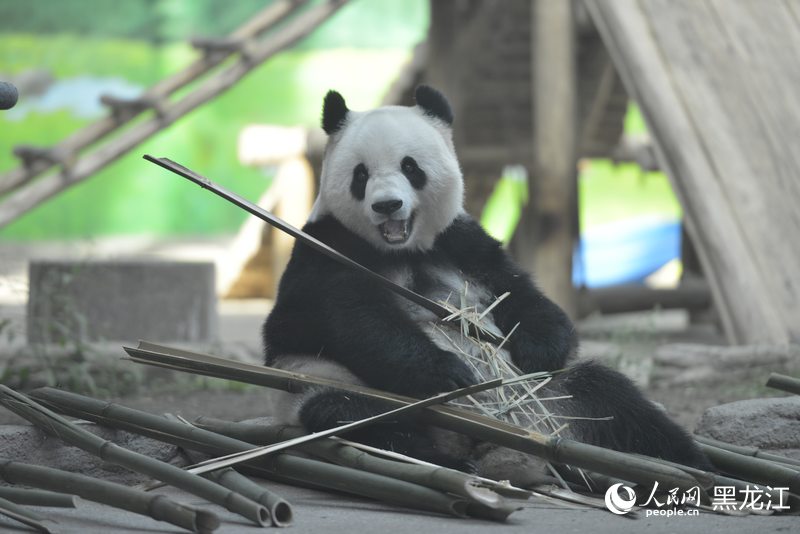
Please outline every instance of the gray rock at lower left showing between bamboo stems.
M95 424L81 425L81 428L150 458L181 467L188 464L178 447L174 445ZM0 426L0 457L81 473L129 486L150 480L146 475L104 462L30 425Z

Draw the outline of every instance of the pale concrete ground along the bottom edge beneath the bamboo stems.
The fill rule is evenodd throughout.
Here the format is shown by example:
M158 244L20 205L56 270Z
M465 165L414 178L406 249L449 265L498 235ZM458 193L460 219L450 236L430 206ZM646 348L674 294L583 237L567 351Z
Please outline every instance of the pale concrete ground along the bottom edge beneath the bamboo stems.
M512 514L505 523L493 523L478 519L461 519L416 512L357 497L320 492L311 489L287 486L274 482L262 482L293 506L294 532L324 532L326 534L352 534L383 532L392 534L468 534L496 532L519 532L526 534L619 534L625 532L648 534L673 534L676 532L707 532L725 534L751 534L798 532L796 517L727 517L702 513L692 517L645 517L615 516L602 510L573 507L546 498L534 498L521 502L522 510ZM227 510L210 505L174 488L159 491L179 502L192 504L215 512L222 520L217 532L253 533L260 527ZM141 533L182 532L171 524L158 522L149 517L120 511L107 506L80 500L76 509L34 508L55 532L89 533ZM16 524L0 518L0 530L16 531ZM23 529L19 529L22 531Z

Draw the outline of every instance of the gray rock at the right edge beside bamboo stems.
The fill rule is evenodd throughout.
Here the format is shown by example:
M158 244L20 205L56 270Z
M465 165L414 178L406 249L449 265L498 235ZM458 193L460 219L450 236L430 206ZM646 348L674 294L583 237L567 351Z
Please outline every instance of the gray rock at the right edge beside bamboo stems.
M800 396L751 399L709 408L695 432L800 460Z

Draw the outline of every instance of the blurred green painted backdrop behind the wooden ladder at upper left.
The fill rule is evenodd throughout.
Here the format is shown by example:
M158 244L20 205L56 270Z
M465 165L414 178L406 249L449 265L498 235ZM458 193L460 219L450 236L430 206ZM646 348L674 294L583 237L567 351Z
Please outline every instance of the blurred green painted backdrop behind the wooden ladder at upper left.
M119 8L123 14L121 18L124 18L128 16L127 10L133 9L128 7L129 3L158 8L162 15L164 10L171 9L171 20L180 19L182 10L195 4L213 9L221 9L220 6L244 9L238 1L0 0L0 20L3 21L0 27L11 24L7 18L11 4L17 11L32 16L42 10L52 9L61 13L59 9L81 6L84 16L91 18L91 21L85 21L86 24L103 25L107 16L107 28L102 31L112 32L114 24L121 22L112 23L110 20L116 20L118 15L108 14L105 7L97 7L96 11L94 8L100 4L124 5L126 7ZM242 1L241 4L252 6L254 2ZM264 5L263 2L257 4L259 7ZM401 4L403 16L399 15ZM169 156L256 200L268 186L270 177L260 170L245 168L237 161L236 143L241 129L252 123L316 126L322 98L330 88L340 90L352 109L374 106L408 59L411 47L424 38L428 16L426 6L425 0L359 0L342 8L300 46L255 69L231 90L90 179L0 229L0 239L235 232L245 218L243 211L144 162L141 155ZM57 22L52 14L36 16L52 20L53 24ZM131 27L143 20L138 16L130 15L128 23ZM239 22L237 20L234 26ZM87 30L86 34L92 37L61 31L65 27L77 31L79 27L70 24L65 19L64 25L54 26L58 28L55 34L47 35L0 32L0 73L13 75L37 68L46 69L57 80L79 75L121 77L147 87L196 57L188 45L178 42L153 44L141 39L104 38L97 29ZM39 27L45 27L44 23ZM364 31L365 28L375 30L370 33ZM348 42L348 35L353 36L350 41L354 43L374 42L380 33L379 28L385 30L383 33L387 40L382 42L385 46L340 46ZM120 35L128 35L125 31L128 30L119 30ZM180 33L175 28L170 31ZM363 40L366 35L372 37ZM24 95L21 102L23 98ZM0 113L0 173L18 165L11 155L14 145L49 146L88 122L67 111L29 113L20 121L12 121Z

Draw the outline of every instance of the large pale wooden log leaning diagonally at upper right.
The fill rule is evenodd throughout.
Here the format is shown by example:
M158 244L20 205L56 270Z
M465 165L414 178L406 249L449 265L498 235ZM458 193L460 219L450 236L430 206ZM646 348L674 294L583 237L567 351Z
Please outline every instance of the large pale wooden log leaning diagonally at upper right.
M798 0L587 2L732 343L800 339Z

